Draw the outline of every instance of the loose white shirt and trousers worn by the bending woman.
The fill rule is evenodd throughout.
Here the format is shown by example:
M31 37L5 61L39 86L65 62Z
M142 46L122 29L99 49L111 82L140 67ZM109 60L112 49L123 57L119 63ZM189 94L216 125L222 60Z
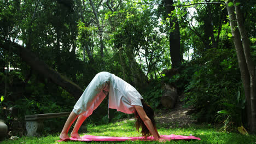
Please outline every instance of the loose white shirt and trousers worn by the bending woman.
M86 87L73 112L85 117L91 115L109 91L108 106L124 113L134 113L134 105L142 106L141 94L129 83L108 72L98 73ZM143 107L143 106L142 106Z

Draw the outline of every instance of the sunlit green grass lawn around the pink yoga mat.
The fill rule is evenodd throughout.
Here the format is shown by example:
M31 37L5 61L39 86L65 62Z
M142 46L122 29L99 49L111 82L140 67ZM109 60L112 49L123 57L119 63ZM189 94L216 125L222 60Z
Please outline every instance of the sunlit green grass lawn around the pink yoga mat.
M105 125L88 125L88 133L87 135L98 135L98 136L140 136L136 131L135 122L126 120L117 123L109 123ZM191 141L168 141L165 143L246 143L246 144L256 144L256 136L254 135L241 135L240 133L222 133L219 132L218 129L214 127L210 127L208 125L192 125L187 128L166 128L166 125L158 125L158 131L160 135L189 135L192 134L196 137L200 137L199 140L191 140ZM81 134L85 135L85 134ZM18 140L4 140L1 141L1 144L5 143L87 143L87 142L79 142L79 141L69 141L69 142L56 142L59 140L59 134L48 135L45 137L26 137L23 136ZM125 141L125 142L90 142L94 143L159 143L156 141Z

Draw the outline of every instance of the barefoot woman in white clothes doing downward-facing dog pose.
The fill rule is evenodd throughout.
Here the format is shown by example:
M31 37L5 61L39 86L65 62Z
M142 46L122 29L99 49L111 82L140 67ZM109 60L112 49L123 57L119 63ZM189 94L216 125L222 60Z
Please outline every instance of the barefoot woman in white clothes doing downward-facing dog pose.
M153 135L155 140L160 139L155 127L154 111L147 105L141 94L129 83L108 72L98 73L86 87L84 93L74 105L62 131L60 139L69 140L68 130L74 123L71 137L81 139L78 130L87 117L89 117L102 100L109 94L108 107L124 113L134 113L137 118L136 128L142 127L144 137Z

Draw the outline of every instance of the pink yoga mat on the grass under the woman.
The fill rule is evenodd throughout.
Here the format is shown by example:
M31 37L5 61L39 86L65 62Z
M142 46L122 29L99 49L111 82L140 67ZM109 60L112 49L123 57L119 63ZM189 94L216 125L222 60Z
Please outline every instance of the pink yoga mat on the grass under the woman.
M152 141L154 140L153 136L147 137L146 139L144 137L114 137L114 136L93 136L93 135L85 135L82 137L82 139L74 139L73 137L70 138L72 141L136 141L136 140L142 140L142 141ZM195 136L183 136L183 135L161 135L160 139L165 140L201 140L199 137ZM59 140L58 142L60 142Z

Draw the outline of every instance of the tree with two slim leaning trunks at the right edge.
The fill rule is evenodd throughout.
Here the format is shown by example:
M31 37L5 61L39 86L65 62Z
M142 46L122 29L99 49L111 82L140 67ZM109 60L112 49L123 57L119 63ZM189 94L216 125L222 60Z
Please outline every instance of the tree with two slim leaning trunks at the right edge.
M243 87L245 89L247 104L247 119L251 131L256 131L256 67L250 53L250 42L241 14L241 2L226 1L229 13L230 28L236 48L238 64L240 67ZM235 5L235 6L234 6ZM242 39L242 41L241 41Z

